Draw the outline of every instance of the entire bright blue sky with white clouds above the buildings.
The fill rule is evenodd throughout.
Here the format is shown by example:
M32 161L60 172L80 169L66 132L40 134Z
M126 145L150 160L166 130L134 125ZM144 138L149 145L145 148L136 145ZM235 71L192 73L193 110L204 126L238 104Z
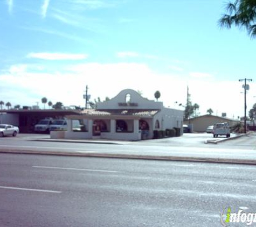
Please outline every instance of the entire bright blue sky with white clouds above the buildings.
M256 40L220 29L223 0L5 0L0 1L0 100L36 105L84 105L140 90L167 107L192 103L203 115L243 116L242 83L253 79ZM41 107L43 105L40 103Z

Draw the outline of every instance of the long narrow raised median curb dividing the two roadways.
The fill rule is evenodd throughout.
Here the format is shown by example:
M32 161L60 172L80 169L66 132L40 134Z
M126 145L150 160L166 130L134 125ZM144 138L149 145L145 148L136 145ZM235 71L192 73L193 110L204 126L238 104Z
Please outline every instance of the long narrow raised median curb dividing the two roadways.
M1 150L0 153L9 154L40 154L40 155L61 155L70 157L96 157L96 158L123 158L123 159L144 159L144 160L166 160L166 161L193 161L211 162L223 164L246 164L256 165L256 160L250 159L225 159L225 158L195 158L177 157L166 155L140 155L140 154L111 154L111 153L86 153L86 152L59 152L59 151L30 151L30 150Z

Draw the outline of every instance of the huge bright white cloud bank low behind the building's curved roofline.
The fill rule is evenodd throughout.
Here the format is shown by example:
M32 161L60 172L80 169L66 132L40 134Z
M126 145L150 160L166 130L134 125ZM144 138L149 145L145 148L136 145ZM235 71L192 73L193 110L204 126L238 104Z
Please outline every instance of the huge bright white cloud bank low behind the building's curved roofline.
M30 66L13 65L9 73L0 75L1 99L13 104L34 105L46 96L54 103L60 101L65 105L84 106L82 95L88 84L92 100L106 96L112 98L126 88L141 90L144 97L154 100L155 91L160 90L160 101L166 107L181 108L175 102L186 103L186 88L189 86L191 102L199 104L202 115L209 108L219 116L222 112L231 118L244 114L244 95L240 93L243 91L242 83L238 81L217 81L213 78L188 80L188 77L156 73L142 63L83 63L61 70L65 71L44 73L41 69L31 70ZM248 110L256 102L253 98L256 94L255 85L250 83ZM25 92L25 97L11 95L12 91L18 93L20 90Z

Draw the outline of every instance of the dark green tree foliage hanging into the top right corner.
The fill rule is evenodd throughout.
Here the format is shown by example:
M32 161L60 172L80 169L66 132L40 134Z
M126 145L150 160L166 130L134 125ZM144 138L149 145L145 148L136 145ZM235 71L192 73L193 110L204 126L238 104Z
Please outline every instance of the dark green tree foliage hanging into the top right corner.
M230 29L232 25L245 27L251 37L256 37L256 1L234 0L227 3L227 14L219 19L219 25Z

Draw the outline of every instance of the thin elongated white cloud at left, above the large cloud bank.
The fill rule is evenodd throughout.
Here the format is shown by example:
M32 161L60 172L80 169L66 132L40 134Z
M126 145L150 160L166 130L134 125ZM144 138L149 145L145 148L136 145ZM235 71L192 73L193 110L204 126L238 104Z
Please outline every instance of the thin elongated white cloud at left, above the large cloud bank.
M29 53L27 58L38 58L44 60L83 60L88 58L87 54L66 53Z

